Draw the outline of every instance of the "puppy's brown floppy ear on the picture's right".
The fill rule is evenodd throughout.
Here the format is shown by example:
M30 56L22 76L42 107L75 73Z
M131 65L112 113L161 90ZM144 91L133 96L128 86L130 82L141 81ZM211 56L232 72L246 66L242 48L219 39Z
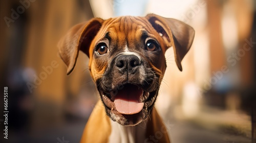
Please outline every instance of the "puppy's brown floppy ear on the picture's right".
M195 30L186 23L173 18L164 18L156 14L148 14L146 18L154 29L161 33L166 46L173 46L176 64L182 71L181 61L193 43Z

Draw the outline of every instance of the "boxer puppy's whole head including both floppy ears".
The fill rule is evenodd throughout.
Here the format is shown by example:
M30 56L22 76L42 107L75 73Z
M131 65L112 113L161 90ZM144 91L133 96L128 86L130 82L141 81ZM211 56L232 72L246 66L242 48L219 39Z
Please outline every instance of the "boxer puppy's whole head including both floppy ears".
M72 39L76 34L79 37ZM150 14L94 18L75 26L59 47L68 74L79 50L89 56L91 76L106 114L120 125L133 126L152 111L166 69L165 51L174 47L182 70L180 62L193 39L194 30L185 23Z

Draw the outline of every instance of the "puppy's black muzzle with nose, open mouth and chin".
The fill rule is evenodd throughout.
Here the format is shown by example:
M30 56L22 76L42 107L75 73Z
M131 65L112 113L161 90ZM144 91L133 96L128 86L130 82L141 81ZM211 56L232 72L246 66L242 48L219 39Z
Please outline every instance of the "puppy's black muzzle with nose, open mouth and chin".
M116 56L97 87L106 113L121 125L137 125L151 112L159 79L155 72L136 55Z

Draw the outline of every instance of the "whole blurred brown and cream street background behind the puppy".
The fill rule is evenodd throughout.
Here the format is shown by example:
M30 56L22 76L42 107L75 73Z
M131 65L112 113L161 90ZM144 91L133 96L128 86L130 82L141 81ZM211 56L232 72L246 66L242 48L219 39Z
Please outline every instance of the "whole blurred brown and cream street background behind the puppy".
M173 49L166 53L156 108L171 126L172 141L256 142L254 0L1 1L0 84L8 87L9 111L4 141L79 142L99 96L85 54L66 75L59 39L93 17L147 13L179 19L196 31L182 72ZM4 105L4 97L0 101Z

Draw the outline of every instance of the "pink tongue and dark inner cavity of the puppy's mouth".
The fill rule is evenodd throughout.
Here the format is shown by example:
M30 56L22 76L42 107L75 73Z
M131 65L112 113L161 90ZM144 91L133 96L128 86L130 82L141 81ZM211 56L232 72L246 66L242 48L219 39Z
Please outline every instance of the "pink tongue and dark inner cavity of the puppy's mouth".
M139 103L139 99L143 93L142 89L135 85L124 85L123 89L118 90L114 104L116 110L121 114L136 114L140 112L144 103Z

